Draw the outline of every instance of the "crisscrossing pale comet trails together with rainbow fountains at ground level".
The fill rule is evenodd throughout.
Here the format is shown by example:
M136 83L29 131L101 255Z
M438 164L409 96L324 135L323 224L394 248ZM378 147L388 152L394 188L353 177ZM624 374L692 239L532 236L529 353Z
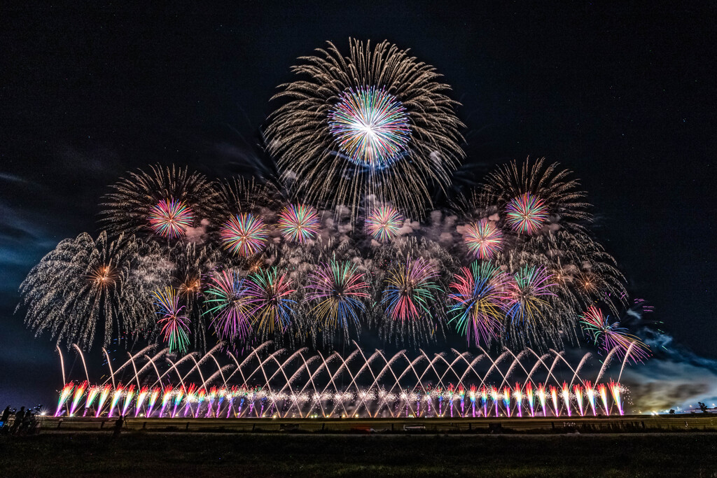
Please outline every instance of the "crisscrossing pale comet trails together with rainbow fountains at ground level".
M624 414L623 396L627 388L612 379L607 384L597 384L602 408L584 409L584 398L593 403L592 382L579 376L574 364L559 354L541 356L527 349L528 354L522 357L523 354L515 356L505 351L497 357L487 353L477 356L455 353L455 357L422 354L413 358L404 352L386 356L380 350L369 354L357 348L346 357L333 353L324 358L305 355L304 350L270 353L268 345L259 345L243 360L234 357L229 365L221 365L216 359L205 360L214 356L212 351L204 357L186 355L184 358L194 358L189 362L184 358L176 362L163 360L161 355L168 351L166 349L154 358L149 355L131 358L131 361L137 360L139 371L126 368L125 363L110 373L108 381L115 386L105 385L104 389L112 400L108 404L100 401L95 416L126 415L132 411L135 416L158 418L267 419L309 416L475 419L564 417L575 412L580 416ZM589 356L581 363L587 358ZM178 367L185 362L188 365ZM206 364L202 367L204 371L195 365L202 363ZM381 371L384 373L379 373ZM526 371L531 373L526 376ZM348 386L341 386L336 380L342 373L350 379ZM605 373L607 369L603 365L598 377ZM322 381L323 375L329 380ZM558 382L560 376L566 377L562 383ZM194 378L199 382L193 382ZM179 379L179 383L175 382ZM134 385L123 386L123 380L143 385L136 391ZM366 385L359 386L359 383ZM60 391L56 416L77 414L74 403L98 388L87 388L87 383L67 383ZM534 394L534 390L538 393ZM163 397L162 405L155 408L153 404L159 396ZM538 396L540 408L534 406L534 396ZM74 399L70 401L70 397ZM547 406L547 398L551 406ZM578 404L577 410L574 403ZM84 414L87 413L85 408Z

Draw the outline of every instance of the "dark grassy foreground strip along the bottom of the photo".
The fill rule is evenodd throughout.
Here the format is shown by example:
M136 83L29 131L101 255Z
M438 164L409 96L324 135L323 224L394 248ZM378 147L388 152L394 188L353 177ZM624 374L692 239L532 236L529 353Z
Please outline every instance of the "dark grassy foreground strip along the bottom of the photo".
M717 434L0 437L2 476L716 476Z

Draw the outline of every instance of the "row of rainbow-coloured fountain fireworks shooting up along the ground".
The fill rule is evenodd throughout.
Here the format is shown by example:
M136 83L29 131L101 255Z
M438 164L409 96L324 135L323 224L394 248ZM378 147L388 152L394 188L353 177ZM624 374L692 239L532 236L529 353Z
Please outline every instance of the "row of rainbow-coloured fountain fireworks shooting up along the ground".
M563 383L561 388L544 386L539 383L533 390L531 383L514 388L502 389L470 386L449 386L445 390L437 388L425 391L368 390L353 393L283 393L265 391L262 388L197 388L189 386L165 386L135 388L110 385L88 386L87 382L78 385L67 383L60 392L55 416L75 416L82 414L99 417L126 416L134 410L134 416L186 417L194 418L235 418L288 416L298 413L300 416L321 414L331 416L359 416L360 409L369 416L379 416L386 407L391 416L593 416L609 415L611 406L608 396L612 396L614 412L623 414L622 386L610 381L593 386L586 381L584 386L572 387ZM333 402L333 407L328 406ZM421 404L424 404L423 408ZM308 404L308 408L305 405ZM392 406L392 408L391 408ZM223 407L223 408L222 408ZM329 410L329 408L331 408ZM348 411L347 411L348 409ZM423 414L423 415L422 415Z

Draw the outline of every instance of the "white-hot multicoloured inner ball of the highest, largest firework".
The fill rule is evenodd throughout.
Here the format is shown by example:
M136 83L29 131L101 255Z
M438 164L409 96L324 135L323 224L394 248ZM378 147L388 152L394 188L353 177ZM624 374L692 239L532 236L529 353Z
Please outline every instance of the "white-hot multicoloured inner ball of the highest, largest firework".
M406 108L376 87L344 92L328 113L328 126L349 161L371 168L389 166L411 139Z

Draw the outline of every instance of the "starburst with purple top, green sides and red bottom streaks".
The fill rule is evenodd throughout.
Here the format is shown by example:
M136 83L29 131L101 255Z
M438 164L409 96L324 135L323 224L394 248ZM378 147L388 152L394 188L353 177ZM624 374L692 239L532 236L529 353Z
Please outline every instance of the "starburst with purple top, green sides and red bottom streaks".
M386 315L404 322L429 313L429 305L440 287L435 282L437 272L425 259L407 259L394 267L386 279L386 289L381 303Z

